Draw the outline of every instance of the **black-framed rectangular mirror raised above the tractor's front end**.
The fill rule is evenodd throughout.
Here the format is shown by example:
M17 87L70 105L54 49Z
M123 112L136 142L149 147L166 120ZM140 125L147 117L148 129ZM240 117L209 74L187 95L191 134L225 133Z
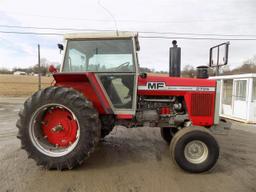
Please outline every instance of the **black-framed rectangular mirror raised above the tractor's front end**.
M219 67L228 64L229 42L221 43L210 48L210 67Z

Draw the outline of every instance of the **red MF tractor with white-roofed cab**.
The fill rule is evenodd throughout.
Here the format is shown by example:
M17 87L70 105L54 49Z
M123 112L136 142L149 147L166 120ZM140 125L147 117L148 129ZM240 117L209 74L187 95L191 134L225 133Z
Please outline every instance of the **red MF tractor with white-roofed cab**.
M34 93L19 113L21 147L47 169L72 169L115 125L160 127L174 162L211 169L219 146L219 84L139 73L138 35L68 34L54 85Z

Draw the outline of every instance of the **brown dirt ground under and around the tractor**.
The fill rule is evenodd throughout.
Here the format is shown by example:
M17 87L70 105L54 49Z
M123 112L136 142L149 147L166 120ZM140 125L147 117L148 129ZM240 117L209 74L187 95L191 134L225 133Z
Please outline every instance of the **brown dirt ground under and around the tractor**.
M255 125L233 122L227 135L216 135L221 156L209 173L189 174L177 168L159 128L147 127L117 127L81 167L47 171L27 158L15 137L19 103L0 98L1 192L256 191Z

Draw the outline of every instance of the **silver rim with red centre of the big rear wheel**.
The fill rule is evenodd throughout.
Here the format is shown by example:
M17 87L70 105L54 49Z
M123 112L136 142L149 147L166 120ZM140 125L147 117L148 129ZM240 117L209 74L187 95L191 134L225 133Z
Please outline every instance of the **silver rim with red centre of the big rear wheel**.
M57 113L60 118L56 120L54 118ZM65 114L67 118L63 119ZM45 121L46 117L48 122ZM49 126L51 126L50 131ZM55 103L46 104L32 114L29 136L34 147L41 153L50 157L61 157L69 154L77 146L80 139L80 125L77 117L68 107ZM61 139L65 139L65 142L60 143Z

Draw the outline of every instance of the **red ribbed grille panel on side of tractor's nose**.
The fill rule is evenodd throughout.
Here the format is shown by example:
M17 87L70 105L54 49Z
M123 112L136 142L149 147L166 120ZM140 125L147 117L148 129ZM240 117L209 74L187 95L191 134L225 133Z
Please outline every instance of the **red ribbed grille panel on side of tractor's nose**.
M192 94L191 114L192 116L211 116L213 107L212 94Z

